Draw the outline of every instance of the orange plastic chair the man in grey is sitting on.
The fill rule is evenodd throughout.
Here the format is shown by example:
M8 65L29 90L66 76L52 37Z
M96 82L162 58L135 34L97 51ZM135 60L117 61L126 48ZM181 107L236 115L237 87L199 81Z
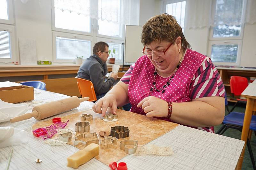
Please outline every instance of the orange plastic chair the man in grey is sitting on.
M88 101L96 101L96 94L91 81L76 77L77 86L82 97L90 97Z

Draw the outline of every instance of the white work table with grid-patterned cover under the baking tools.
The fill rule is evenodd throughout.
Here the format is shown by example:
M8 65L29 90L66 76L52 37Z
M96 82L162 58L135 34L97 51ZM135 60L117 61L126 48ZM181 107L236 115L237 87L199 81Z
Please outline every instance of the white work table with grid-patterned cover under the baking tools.
M35 100L49 102L67 98L53 92L36 89ZM85 101L76 109L72 109L61 115L63 117L92 108L91 102ZM31 111L31 110L30 110ZM29 112L29 111L28 111ZM53 117L41 120L51 120ZM0 126L12 126L25 130L28 134L28 142L0 148L0 169L4 169L13 149L9 169L73 169L67 167L67 157L79 149L71 145L53 146L44 144L42 138L36 138L32 133L32 125L39 122L34 117L21 122L2 122ZM235 169L240 154L244 147L244 141L212 134L198 129L179 125L161 137L150 142L158 146L170 145L174 152L172 156L134 156L128 155L118 162L126 162L128 169ZM111 156L111 155L109 155ZM41 163L35 160L40 158ZM97 159L91 159L78 169L110 169Z

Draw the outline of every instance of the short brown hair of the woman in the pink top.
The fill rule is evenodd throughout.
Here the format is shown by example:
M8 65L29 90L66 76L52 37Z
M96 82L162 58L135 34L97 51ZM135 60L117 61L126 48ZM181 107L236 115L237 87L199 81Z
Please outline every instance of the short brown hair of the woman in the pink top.
M163 40L173 43L179 36L181 37L181 48L183 51L187 48L191 48L175 17L162 14L151 17L142 26L141 42L143 45L149 45L152 41L161 42Z

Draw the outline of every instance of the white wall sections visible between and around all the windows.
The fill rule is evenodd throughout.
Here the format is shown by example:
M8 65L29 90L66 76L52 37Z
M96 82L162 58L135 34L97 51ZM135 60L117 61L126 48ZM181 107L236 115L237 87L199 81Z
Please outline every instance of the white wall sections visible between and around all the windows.
M37 59L53 60L52 54L52 18L51 0L29 0L26 4L20 0L12 1L15 12L16 37L35 39ZM162 1L140 0L140 25L150 17L159 15ZM196 17L196 16L195 16ZM240 66L256 67L256 24L246 24L242 45ZM207 54L209 29L186 29L184 35L193 50ZM18 40L16 40L18 51Z

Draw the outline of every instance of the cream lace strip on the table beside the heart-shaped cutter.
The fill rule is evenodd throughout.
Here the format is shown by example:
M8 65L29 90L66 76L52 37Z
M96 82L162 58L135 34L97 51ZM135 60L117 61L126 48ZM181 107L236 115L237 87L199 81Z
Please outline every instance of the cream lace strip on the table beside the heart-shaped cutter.
M171 146L156 146L153 144L147 144L146 146L138 145L138 148L134 155L173 155Z

